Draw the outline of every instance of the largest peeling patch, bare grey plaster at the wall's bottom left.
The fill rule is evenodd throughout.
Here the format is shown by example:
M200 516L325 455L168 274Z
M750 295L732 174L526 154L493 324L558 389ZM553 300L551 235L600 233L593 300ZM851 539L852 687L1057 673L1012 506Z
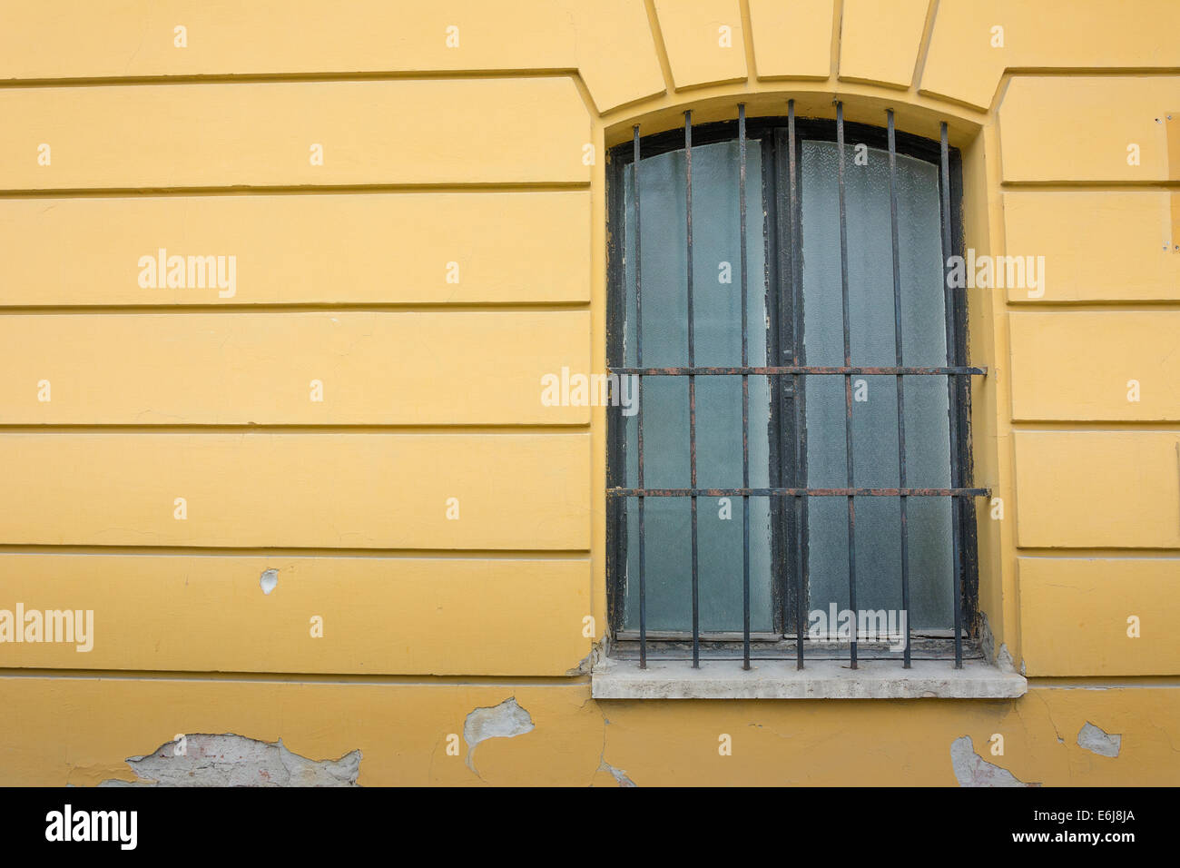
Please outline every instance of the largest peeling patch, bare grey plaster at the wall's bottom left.
M184 737L184 752L168 742L142 757L127 757L138 781L99 787L356 787L361 752L340 759L308 759L277 742L225 733Z

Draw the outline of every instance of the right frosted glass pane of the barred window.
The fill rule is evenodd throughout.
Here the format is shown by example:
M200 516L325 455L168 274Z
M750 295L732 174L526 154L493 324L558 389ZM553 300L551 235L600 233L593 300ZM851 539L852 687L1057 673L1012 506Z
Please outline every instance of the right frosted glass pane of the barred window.
M850 346L853 365L896 364L890 243L889 154L868 149L867 165L845 150ZM802 143L804 346L807 364L843 365L838 151ZM903 364L946 364L937 168L897 157ZM897 487L897 386L893 377L858 377L864 400L852 405L857 487ZM843 377L811 377L806 392L807 483L848 484ZM946 379L905 380L906 484L950 485ZM857 607L902 607L900 505L858 497ZM951 509L946 498L911 497L910 626L952 625ZM847 501L813 497L808 514L812 609L848 605Z

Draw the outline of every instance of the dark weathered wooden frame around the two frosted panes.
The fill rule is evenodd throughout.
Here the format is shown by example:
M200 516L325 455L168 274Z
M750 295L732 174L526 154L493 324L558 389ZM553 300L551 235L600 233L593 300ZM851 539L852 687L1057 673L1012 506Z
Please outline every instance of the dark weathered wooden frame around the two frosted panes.
M690 124L690 122L687 122ZM889 148L887 131L866 124L854 124L843 122L844 137L846 144L864 143L870 148L886 150ZM762 202L766 208L766 222L762 230L762 244L765 252L763 283L767 287L767 314L769 327L767 329L767 360L766 365L791 365L793 361L793 347L791 345L792 331L796 340L802 342L802 316L795 318L794 299L801 298L796 293L795 278L798 270L793 262L798 256L798 248L801 247L801 231L794 231L795 241L792 243L788 229L791 202L787 195L789 185L788 170L788 145L787 129L788 118L752 118L745 122L746 138L748 146L761 149L762 164ZM801 152L801 142L820 141L837 142L838 125L834 119L818 118L794 118L794 130L796 141L795 161L795 196L794 227L800 226L802 213L802 200L806 191L801 183L801 163L798 158ZM706 145L719 142L736 141L739 137L739 122L725 120L701 125L691 125L691 145ZM638 138L642 158L677 151L684 149L684 129L674 129L666 132ZM625 328L627 291L623 285L623 256L627 248L624 237L627 220L623 202L624 172L631 169L634 163L632 142L617 145L609 151L607 168L607 207L608 207L608 333L607 333L607 358L608 366L616 367L625 365L623 358L623 334ZM943 156L943 145L918 136L896 132L896 152L914 157L936 167L939 167ZM950 223L951 250L956 255L962 255L962 158L958 149L946 148L949 156L949 215L944 218ZM939 188L944 185L943 175L939 172ZM945 197L943 197L945 201ZM651 218L651 217L647 217ZM749 243L756 243L756 234ZM850 242L851 246L851 242ZM966 365L968 347L968 316L965 298L961 293L953 294L952 318L955 322L955 353L953 364ZM778 360L774 360L778 359ZM752 359L750 365L763 364ZM792 380L799 383L799 394L792 394ZM795 431L792 400L800 402L800 419L806 406L804 402L807 377L792 378L789 376L771 377L771 485L806 487L806 462L801 462L799 474L795 474ZM970 378L966 376L952 377L955 387L955 413L952 425L957 433L956 455L952 463L958 464L959 485L969 487L972 479L971 436L970 436ZM792 412L787 411L792 407ZM805 423L805 419L804 419ZM802 425L804 437L806 437L806 424ZM608 412L608 462L607 484L608 488L621 488L627 484L625 474L625 426L622 420L621 409L611 407ZM799 453L806 455L806 440L800 442ZM607 577L608 577L608 616L612 635L617 637L622 631L624 594L625 588L625 564L627 564L627 510L628 504L634 503L629 497L608 497L608 521L607 521ZM774 612L775 639L782 637L794 637L795 613L806 611L806 600L800 606L796 592L796 582L792 580L791 563L794 556L792 541L800 548L799 557L802 575L807 573L807 535L799 534L796 523L796 511L793 508L793 500L789 497L772 497L772 603ZM808 498L801 498L806 502ZM976 543L976 507L970 497L959 498L961 507L958 515L959 546L958 556L962 569L962 596L959 600L962 612L962 624L968 635L976 635L978 628L978 557ZM806 507L804 508L806 509ZM802 513L806 522L806 511ZM951 577L948 576L948 581ZM741 582L740 572L735 574L735 582ZM805 586L806 593L806 586ZM804 627L806 632L806 626ZM708 638L710 634L704 634ZM682 635L669 637L673 641L683 641L689 638L686 631ZM755 635L755 640L759 637ZM647 639L647 641L660 641L658 638ZM748 657L747 635L746 647ZM695 646L694 638L694 646ZM800 665L802 665L802 644L800 642ZM909 650L907 650L909 652ZM961 657L958 642L956 642L957 658ZM695 651L694 651L695 655ZM909 660L909 653L907 653Z

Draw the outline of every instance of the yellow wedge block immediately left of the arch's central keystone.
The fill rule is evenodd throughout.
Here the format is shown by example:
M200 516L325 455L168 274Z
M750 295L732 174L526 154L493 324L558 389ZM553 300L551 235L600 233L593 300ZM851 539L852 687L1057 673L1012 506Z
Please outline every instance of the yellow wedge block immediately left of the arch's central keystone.
M738 0L655 0L655 6L676 90L749 74Z

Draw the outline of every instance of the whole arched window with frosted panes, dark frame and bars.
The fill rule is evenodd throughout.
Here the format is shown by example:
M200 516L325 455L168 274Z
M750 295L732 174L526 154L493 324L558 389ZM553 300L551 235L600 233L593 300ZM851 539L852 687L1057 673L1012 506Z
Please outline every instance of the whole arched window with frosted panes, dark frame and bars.
M961 664L984 492L944 269L959 161L945 124L883 120L686 112L611 151L608 364L640 400L611 412L608 569L643 661Z

